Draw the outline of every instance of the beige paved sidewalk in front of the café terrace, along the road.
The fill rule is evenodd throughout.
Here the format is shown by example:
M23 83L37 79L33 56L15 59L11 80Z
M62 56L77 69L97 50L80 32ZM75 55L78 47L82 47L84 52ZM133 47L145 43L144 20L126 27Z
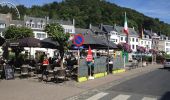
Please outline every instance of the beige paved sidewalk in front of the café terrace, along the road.
M124 79L135 77L159 68L152 65L128 70L124 73L112 74L106 77L78 83L67 81L65 83L38 82L37 79L0 80L0 97L2 100L63 100L65 98L83 93L89 89L98 88L104 84L117 83Z

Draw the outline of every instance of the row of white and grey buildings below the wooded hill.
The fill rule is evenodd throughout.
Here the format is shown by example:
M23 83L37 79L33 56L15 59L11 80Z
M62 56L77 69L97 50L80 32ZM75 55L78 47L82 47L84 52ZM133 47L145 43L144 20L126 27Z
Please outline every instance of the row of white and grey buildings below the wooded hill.
M35 18L30 16L24 16L23 20L13 20L11 14L0 14L0 33L3 37L2 32L11 25L15 26L25 26L31 28L34 33L34 37L37 39L45 39L47 38L47 33L44 32L44 28L48 23L59 23L65 32L69 32L72 34L76 33L88 33L96 35L103 35L108 37L108 39L115 44L126 42L126 34L123 32L122 26L111 26L111 25L103 25L93 26L89 24L88 29L76 28L75 20L54 20L49 19L49 17L45 18ZM170 39L165 35L158 35L149 30L144 30L144 34L140 37L141 33L135 31L134 28L129 28L129 43L133 52L137 51L137 46L143 46L146 50L155 49L158 51L164 51L166 53L170 53ZM36 49L36 48L34 48ZM47 51L47 49L37 48L37 51ZM33 50L35 53L36 50ZM51 52L51 51L48 51ZM51 54L52 55L52 54Z

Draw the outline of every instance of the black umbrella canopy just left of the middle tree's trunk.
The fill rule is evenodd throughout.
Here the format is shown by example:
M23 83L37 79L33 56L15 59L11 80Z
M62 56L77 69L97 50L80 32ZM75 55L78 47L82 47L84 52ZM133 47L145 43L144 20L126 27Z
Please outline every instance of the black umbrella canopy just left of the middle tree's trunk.
M52 40L51 38L45 38L41 40L41 47L57 49L59 47L59 43L57 41Z

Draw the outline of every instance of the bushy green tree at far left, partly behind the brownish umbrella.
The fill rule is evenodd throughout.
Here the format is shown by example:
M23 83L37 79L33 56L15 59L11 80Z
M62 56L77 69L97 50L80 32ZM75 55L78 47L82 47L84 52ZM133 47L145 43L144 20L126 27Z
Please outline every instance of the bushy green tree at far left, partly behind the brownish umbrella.
M25 37L33 37L33 31L26 27L16 27L16 26L9 26L7 30L3 32L4 38L9 41L15 41L18 39L22 39ZM13 47L12 51L15 52L16 59L21 51L23 51L22 47Z

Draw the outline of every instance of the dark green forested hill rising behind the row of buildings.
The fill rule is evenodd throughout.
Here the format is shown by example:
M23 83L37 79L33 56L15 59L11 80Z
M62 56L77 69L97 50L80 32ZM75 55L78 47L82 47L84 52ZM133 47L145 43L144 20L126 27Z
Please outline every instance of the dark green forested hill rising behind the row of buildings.
M87 28L89 23L99 25L100 23L109 25L120 25L124 23L124 12L127 13L128 26L141 30L141 27L170 35L170 25L159 21L158 18L150 18L135 10L122 8L116 4L105 0L63 0L63 2L53 2L43 6L32 6L26 8L23 5L17 6L21 18L24 15L33 17L49 16L54 19L72 19L76 21L76 27ZM0 13L13 13L15 10L7 6L0 7Z

